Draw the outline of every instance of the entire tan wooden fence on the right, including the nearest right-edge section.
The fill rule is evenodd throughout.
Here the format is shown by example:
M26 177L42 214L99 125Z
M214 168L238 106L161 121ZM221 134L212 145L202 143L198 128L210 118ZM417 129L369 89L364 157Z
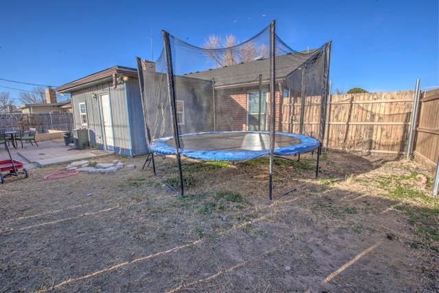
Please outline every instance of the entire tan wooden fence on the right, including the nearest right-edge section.
M405 155L414 97L414 90L331 95L322 145L364 155ZM421 92L420 97L414 156L434 172L439 156L439 90ZM282 131L318 138L320 101L320 97L284 98Z

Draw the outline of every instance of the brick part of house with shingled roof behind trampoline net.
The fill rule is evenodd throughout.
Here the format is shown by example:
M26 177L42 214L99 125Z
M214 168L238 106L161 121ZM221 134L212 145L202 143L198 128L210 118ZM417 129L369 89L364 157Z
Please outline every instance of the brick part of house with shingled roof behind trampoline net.
M318 49L289 53L276 57L276 105L281 105L282 98L300 96L301 84L289 83L290 75L305 64L317 59ZM301 74L301 73L300 73ZM213 87L217 99L217 125L219 131L230 130L268 130L269 127L269 93L270 93L270 59L260 58L252 62L214 68L198 73L189 73L185 77L214 81ZM261 105L259 105L261 90ZM307 95L322 94L321 84L308 88ZM261 117L259 118L259 106ZM281 109L276 109L277 131L281 131Z

